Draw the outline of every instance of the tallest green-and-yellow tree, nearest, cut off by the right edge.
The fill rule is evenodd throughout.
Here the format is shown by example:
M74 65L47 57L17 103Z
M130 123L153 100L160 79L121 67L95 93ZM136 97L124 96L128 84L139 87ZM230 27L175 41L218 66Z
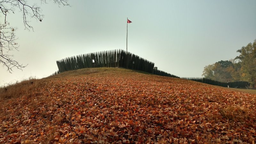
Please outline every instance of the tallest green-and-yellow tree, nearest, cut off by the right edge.
M236 59L241 62L241 77L256 88L256 39L236 52L240 53Z

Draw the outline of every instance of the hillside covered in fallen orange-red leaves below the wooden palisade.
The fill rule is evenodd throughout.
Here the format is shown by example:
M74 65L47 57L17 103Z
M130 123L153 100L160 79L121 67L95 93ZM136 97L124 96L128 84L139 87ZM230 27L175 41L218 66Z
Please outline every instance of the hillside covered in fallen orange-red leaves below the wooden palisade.
M0 96L0 143L256 141L256 94L179 78L88 68Z

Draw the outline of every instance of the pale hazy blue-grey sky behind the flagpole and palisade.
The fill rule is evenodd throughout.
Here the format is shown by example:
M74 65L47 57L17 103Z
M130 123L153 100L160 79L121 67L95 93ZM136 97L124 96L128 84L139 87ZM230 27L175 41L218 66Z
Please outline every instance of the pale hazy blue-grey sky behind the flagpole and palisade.
M30 3L36 1L28 0ZM43 78L58 70L56 60L91 52L126 50L180 77L202 77L204 67L234 59L256 39L255 0L69 0L69 6L40 4L44 19L22 13L7 15L19 51L13 59L27 67L12 74L0 64L0 86L29 77ZM1 23L4 17L0 17Z

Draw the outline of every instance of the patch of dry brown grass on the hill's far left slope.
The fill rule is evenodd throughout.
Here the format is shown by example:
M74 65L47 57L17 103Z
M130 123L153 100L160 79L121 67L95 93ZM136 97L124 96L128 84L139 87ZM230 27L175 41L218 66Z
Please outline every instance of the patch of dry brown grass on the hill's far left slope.
M47 102L48 99L44 96L37 97L39 103L34 102L34 96L40 95L40 89L46 84L46 79L29 78L19 83L0 87L0 117L2 117L2 120L8 120L10 118L8 117L8 110L23 106L37 109L40 103ZM20 111L16 111L16 113L21 116Z

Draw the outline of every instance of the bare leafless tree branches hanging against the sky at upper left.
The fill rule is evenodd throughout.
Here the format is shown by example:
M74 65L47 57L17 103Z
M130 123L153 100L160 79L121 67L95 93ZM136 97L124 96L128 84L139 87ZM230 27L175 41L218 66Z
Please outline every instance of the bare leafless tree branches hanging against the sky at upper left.
M31 2L35 4L30 4ZM68 0L52 0L52 2L59 6L69 5ZM8 22L8 15L16 13L21 14L25 29L33 30L29 21L35 19L42 22L44 18L41 8L37 3L47 4L47 2L46 0L39 0L36 3L31 0L30 3L28 3L27 0L0 0L0 63L3 64L10 73L13 71L13 68L22 69L26 67L26 65L13 60L13 56L10 54L13 50L18 50L19 44L17 43L17 37L15 35L16 28L12 27Z

